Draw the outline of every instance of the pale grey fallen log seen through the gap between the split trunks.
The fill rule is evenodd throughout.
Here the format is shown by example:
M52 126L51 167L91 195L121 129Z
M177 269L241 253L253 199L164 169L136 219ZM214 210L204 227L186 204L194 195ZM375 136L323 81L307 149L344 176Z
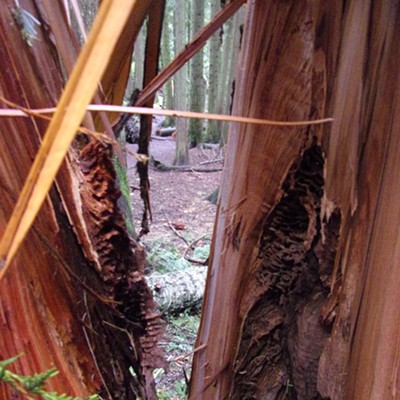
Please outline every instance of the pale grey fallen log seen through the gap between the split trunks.
M199 307L204 294L207 268L196 267L167 274L153 273L147 283L163 313L173 314Z

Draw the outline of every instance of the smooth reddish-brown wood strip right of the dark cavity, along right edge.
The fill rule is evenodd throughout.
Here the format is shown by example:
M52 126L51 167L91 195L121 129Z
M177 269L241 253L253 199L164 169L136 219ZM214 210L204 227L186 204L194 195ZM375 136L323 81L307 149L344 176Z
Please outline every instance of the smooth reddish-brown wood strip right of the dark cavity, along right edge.
M346 4L335 123L327 153L327 212L342 212L336 320L320 367L332 399L397 399L400 34L397 1ZM337 44L339 46L339 44ZM333 78L333 76L332 76ZM346 179L343 179L346 176ZM397 286L398 287L398 286Z

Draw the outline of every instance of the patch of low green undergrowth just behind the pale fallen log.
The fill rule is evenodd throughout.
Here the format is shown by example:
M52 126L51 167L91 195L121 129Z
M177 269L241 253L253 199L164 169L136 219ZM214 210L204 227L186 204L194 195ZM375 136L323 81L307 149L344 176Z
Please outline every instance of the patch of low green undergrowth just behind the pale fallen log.
M150 265L160 273L179 271L190 267L173 244L155 241L147 257Z

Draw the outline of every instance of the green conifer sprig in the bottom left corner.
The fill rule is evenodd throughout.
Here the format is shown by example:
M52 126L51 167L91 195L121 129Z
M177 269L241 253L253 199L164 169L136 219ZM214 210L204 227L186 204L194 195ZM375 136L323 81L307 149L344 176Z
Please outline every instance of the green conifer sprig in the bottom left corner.
M58 374L55 368L50 368L45 372L34 374L33 376L18 375L7 369L8 365L16 361L20 355L0 361L0 381L3 381L13 387L14 390L23 394L28 399L36 399L35 395L43 400L98 400L97 394L86 398L71 397L66 394L57 394L55 392L46 392L44 385L46 381Z

